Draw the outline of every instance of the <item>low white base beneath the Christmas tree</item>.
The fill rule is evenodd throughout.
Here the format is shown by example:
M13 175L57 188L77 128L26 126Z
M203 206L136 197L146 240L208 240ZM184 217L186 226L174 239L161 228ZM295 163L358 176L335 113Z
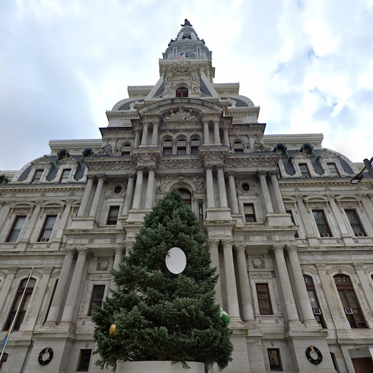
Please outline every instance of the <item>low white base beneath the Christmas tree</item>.
M191 369L184 369L172 361L118 361L115 373L204 373L204 363L187 361Z

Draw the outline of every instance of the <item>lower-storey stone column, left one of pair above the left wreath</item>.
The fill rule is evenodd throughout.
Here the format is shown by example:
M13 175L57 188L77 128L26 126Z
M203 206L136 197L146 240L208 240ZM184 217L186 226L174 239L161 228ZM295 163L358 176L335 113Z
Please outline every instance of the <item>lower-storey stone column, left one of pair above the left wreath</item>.
M61 274L59 274L55 295L53 296L52 303L50 304L48 317L46 319L46 325L57 324L59 310L61 309L61 307L63 307L62 300L64 299L64 292L68 283L68 275L70 274L74 254L75 249L66 249L64 264L61 268Z

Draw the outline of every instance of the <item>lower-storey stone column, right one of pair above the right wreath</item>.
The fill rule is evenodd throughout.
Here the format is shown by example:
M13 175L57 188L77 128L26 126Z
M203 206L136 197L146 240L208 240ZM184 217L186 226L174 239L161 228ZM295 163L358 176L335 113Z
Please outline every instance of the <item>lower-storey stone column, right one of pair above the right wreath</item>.
M303 321L307 327L320 329L320 325L315 320L314 312L312 311L311 303L309 302L309 296L305 286L302 269L300 268L296 247L287 246L287 254L289 255L290 267L294 276L294 285L298 298L298 304L300 305L300 310L303 314Z

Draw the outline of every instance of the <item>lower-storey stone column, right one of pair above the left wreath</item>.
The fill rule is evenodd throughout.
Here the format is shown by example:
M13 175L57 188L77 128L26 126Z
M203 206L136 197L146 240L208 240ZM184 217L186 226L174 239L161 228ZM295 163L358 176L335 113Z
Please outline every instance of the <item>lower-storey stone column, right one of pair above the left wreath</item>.
M86 258L88 255L87 249L79 249L77 262L71 278L70 289L68 289L68 296L66 298L64 313L62 314L61 324L75 323L74 313L77 308L77 298L81 289L82 283L84 283L84 267L86 265Z

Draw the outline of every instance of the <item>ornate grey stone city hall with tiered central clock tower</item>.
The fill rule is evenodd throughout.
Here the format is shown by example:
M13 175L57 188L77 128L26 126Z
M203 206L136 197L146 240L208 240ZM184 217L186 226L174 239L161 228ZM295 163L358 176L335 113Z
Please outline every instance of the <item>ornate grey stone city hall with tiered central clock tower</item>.
M1 340L19 308L0 370L100 371L92 305L176 188L220 275L224 372L373 372L373 178L351 184L361 164L321 134L265 134L239 84L213 82L189 21L159 66L106 112L101 139L50 141L0 172Z

